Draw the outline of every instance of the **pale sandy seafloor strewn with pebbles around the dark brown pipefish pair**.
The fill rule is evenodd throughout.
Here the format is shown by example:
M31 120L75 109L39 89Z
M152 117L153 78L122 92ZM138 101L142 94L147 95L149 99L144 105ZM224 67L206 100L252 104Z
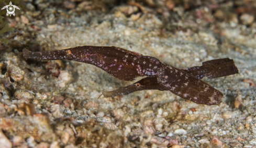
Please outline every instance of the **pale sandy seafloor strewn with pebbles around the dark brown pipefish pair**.
M0 47L2 145L256 147L255 28L216 22L197 27L197 31L170 31L161 29L167 24L151 13L142 14L138 20L116 11L71 13L69 18L53 15L53 20L49 15L41 18L44 21L21 13L29 22L13 19L17 22L15 31L2 34L1 38L10 40ZM58 19L66 23L57 23ZM25 46L31 51L51 51L83 45L123 47L177 68L228 57L235 61L239 73L203 79L224 94L220 105L200 105L158 90L98 98L103 90L133 82L118 80L85 63L26 60L21 56Z

